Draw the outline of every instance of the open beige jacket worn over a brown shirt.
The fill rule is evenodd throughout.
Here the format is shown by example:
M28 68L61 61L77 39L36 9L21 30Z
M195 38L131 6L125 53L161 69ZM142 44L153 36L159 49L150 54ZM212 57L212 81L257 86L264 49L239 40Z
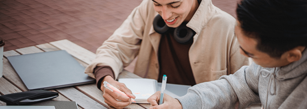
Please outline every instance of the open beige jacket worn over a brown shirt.
M157 14L153 2L143 0L97 49L97 57L87 66L85 73L95 78L93 69L108 65L116 79L123 68L138 56L134 73L143 78L157 79L161 35L152 26ZM239 52L234 35L235 18L215 7L211 0L202 0L187 26L196 32L189 50L196 83L216 80L248 65L248 59Z

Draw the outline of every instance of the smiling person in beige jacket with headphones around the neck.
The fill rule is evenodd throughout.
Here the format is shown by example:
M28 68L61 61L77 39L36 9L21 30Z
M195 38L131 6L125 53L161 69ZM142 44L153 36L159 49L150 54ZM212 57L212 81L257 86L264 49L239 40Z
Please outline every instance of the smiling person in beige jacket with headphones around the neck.
M248 65L234 35L235 18L211 0L144 0L101 47L85 72L97 79L105 102L124 108L135 98L119 73L136 58L142 78L195 85L229 75ZM107 81L129 97L103 87ZM117 100L120 101L117 101Z

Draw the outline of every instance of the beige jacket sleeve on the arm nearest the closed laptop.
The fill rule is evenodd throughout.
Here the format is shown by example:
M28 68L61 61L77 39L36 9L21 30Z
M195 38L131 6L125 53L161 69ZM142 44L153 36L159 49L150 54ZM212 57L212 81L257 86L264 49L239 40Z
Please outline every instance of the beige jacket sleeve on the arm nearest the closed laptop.
M138 54L143 29L145 26L147 5L150 0L144 0L136 7L122 25L103 42L96 51L96 59L87 66L85 73L92 78L96 66L110 66L115 79L124 67L128 66Z

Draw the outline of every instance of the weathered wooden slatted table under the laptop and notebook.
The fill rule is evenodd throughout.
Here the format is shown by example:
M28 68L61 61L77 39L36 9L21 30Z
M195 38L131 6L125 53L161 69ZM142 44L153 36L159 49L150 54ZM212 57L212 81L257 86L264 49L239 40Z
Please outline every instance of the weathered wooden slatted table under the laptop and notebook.
M10 94L16 92L28 91L21 79L18 77L12 65L8 62L7 56L24 55L30 53L47 52L55 50L66 50L75 59L86 67L96 57L96 55L81 46L69 41L58 40L46 44L30 46L17 50L10 50L3 53L3 77L0 78L0 94ZM141 78L133 73L124 70L119 78ZM52 100L56 101L75 101L79 109L115 109L109 107L102 97L102 91L96 86L96 83L79 85L66 88L57 88L49 91L58 92L59 97ZM5 102L0 101L0 106L6 105ZM147 109L149 104L132 103L126 109Z

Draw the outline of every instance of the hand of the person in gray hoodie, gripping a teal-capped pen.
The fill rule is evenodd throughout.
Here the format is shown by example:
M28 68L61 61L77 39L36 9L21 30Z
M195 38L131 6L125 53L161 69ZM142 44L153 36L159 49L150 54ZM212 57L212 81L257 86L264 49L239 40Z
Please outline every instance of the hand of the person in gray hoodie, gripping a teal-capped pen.
M164 93L163 103L158 104L160 101L160 91L157 91L155 94L151 95L147 102L150 103L149 109L182 109L181 103L171 96Z

